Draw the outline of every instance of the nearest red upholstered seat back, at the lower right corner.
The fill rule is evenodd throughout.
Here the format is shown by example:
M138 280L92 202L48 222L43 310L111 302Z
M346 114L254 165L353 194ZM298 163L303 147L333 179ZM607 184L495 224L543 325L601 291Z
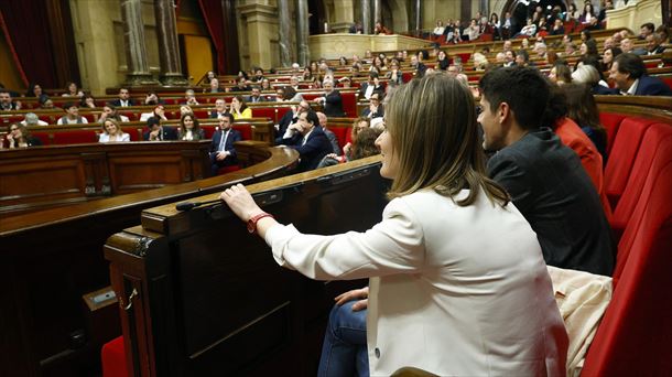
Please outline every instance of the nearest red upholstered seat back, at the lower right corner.
M628 224L631 241L624 245L624 235L619 245L621 272L582 376L666 376L672 370L670 162L651 171L643 192L650 197L638 202L635 223Z

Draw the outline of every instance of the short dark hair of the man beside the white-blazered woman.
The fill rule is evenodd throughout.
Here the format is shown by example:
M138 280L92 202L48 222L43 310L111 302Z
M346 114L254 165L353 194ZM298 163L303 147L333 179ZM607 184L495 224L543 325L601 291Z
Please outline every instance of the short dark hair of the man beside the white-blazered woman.
M507 103L521 128L540 127L551 90L539 69L521 66L495 68L483 76L478 87L491 111Z

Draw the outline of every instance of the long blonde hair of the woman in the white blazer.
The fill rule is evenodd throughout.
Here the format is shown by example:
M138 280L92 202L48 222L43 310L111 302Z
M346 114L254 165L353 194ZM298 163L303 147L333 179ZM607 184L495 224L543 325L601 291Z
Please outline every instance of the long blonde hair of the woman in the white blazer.
M453 197L469 190L460 206L474 203L480 188L505 206L510 196L486 176L476 104L469 89L453 77L430 74L402 85L386 112L399 171L388 197L422 188Z

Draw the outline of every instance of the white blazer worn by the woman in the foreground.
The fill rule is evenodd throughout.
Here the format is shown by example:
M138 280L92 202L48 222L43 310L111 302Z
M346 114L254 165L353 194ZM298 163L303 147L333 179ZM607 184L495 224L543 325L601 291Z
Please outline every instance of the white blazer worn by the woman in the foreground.
M467 194L463 191L457 198ZM424 190L391 201L366 233L269 229L275 260L318 280L370 277L371 376L564 376L567 334L536 235L513 204Z

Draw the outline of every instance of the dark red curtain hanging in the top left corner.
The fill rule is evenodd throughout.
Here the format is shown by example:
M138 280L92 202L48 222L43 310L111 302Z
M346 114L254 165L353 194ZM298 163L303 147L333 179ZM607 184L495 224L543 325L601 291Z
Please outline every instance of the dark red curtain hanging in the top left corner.
M56 88L54 52L44 1L0 1L0 24L25 85ZM77 58L73 56L72 58Z

